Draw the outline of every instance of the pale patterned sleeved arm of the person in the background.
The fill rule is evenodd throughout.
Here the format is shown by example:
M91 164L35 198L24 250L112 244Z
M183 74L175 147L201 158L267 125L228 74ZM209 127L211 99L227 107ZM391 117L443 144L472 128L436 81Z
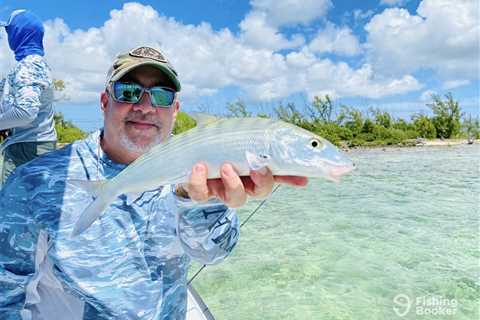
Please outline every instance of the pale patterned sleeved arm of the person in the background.
M14 104L5 113L0 114L0 130L23 127L37 117L41 106L40 97L45 89L43 68L37 63L21 63L15 73L16 88Z

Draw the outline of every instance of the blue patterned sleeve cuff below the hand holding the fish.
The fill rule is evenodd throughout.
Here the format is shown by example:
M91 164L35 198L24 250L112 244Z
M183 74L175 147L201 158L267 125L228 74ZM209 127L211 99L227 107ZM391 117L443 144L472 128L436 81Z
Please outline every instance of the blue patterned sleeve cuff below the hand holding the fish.
M239 237L234 209L217 200L199 204L180 197L177 207L177 232L187 255L203 264L215 264L233 250Z

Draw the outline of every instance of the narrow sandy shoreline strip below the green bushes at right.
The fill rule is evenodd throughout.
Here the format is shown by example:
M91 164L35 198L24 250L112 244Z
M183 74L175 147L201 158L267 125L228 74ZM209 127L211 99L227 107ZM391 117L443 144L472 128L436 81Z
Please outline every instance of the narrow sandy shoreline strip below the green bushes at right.
M479 145L480 139L473 140L472 145ZM407 140L400 144L378 145L378 146L342 146L342 151L349 152L354 150L373 150L373 149L398 149L398 148L422 148L422 147L451 147L459 145L469 145L468 139L431 139L431 140Z

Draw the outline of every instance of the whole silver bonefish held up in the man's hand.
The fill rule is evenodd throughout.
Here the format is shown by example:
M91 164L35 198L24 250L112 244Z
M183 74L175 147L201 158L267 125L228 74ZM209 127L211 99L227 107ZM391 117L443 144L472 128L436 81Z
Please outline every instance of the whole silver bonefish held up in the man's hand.
M207 115L196 119L195 128L153 147L114 178L72 181L95 197L76 222L72 236L86 230L120 194L188 182L191 168L199 161L206 163L209 179L220 177L225 162L240 176L268 167L274 175L333 181L354 168L352 161L324 138L280 120Z

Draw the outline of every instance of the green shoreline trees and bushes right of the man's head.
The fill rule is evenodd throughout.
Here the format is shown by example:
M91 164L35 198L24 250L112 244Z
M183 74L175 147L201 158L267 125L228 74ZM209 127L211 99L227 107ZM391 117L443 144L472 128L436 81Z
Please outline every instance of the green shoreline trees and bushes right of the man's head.
M274 115L257 114L260 117L275 117L315 132L339 146L385 146L413 145L417 138L451 139L480 138L479 118L464 117L452 94L446 94L445 100L432 95L432 102L427 104L432 115L414 114L410 120L395 118L387 111L360 109L342 105L335 107L332 99L315 97L300 111L294 103L280 104L274 109ZM250 117L243 101L227 105L227 116ZM462 122L463 117L463 122ZM187 120L190 119L190 120ZM193 119L186 114L177 117L175 133L191 128Z

